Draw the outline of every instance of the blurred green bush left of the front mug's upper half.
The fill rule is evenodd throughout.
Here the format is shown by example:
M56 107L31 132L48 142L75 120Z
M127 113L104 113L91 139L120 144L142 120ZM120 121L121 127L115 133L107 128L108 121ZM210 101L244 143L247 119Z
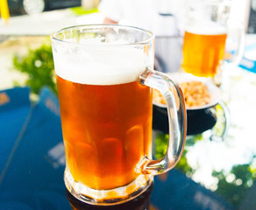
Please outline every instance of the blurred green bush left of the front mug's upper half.
M35 50L28 49L25 56L17 54L12 61L15 70L27 75L25 84L31 88L32 93L38 95L40 89L47 86L57 94L51 45L44 44ZM17 81L14 84L19 85Z

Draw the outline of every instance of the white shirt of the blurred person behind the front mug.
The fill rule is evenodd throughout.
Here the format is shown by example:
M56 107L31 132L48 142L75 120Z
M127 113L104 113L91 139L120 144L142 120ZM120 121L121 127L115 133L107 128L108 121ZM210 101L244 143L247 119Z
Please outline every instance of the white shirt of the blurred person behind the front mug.
M152 31L155 36L176 36L182 30L187 0L102 0L99 11L122 25Z

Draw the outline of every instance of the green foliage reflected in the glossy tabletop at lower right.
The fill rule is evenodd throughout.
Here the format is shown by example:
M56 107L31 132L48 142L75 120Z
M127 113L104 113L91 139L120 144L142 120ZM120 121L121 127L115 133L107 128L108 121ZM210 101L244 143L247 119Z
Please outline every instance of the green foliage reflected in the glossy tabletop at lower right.
M193 147L193 145L201 140L203 140L202 135L188 137L186 147ZM155 158L162 158L164 156L167 151L167 143L168 135L157 132L154 149ZM184 172L188 177L192 177L196 169L188 165L188 159L186 157L188 149L186 149L186 147L175 168ZM245 198L245 193L248 188L252 186L256 179L256 154L252 155L252 161L248 164L234 165L229 172L225 172L224 170L217 172L213 170L211 175L217 178L217 188L215 192L233 207L239 207L241 201Z

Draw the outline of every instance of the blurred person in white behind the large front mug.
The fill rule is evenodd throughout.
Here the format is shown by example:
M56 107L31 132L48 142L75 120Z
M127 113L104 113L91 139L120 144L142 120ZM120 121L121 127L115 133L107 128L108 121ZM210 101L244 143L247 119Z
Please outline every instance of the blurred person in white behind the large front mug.
M132 25L155 35L155 68L177 72L188 0L102 0L103 24Z

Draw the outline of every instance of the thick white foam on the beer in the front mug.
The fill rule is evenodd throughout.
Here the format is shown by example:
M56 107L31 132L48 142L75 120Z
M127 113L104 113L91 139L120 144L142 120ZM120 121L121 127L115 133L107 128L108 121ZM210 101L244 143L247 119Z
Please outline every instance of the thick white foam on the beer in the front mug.
M150 59L140 49L122 46L95 49L56 49L55 72L61 78L81 84L115 85L138 81ZM98 47L97 47L98 48ZM64 52L65 51L65 52Z

